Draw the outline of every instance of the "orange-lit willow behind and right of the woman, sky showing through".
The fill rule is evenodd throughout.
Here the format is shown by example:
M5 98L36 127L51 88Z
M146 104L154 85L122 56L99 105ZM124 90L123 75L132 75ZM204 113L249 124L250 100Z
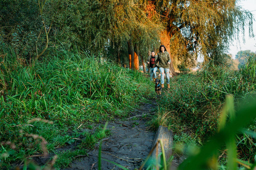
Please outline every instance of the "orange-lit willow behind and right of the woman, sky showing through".
M162 0L151 1L165 23L160 35L162 44L174 57L188 62L204 56L205 61L220 61L230 40L249 25L252 35L253 15L237 6L236 0ZM247 24L248 23L248 24Z

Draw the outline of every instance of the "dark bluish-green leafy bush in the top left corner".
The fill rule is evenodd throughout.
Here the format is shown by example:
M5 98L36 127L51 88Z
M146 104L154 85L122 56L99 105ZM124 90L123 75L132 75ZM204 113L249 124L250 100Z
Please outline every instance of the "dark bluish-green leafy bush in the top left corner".
M0 53L11 45L17 58L29 59L36 48L42 49L43 39L38 39L42 20L36 3L5 0L0 9Z

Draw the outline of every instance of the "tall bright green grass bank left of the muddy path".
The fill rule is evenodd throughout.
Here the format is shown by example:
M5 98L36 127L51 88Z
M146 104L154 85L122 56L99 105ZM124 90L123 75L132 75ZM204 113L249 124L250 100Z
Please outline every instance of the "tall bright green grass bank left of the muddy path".
M93 132L77 128L127 116L153 90L141 73L87 53L63 50L35 65L8 53L0 62L0 167L42 153L42 138L49 152L76 138L92 147L82 136ZM29 121L34 118L41 119ZM104 137L91 135L93 141Z

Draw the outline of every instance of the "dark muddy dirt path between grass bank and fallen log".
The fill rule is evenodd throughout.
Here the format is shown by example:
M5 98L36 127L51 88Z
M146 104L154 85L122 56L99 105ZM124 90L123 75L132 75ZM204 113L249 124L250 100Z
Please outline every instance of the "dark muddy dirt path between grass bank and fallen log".
M131 112L130 116L154 114L155 101L143 103ZM151 150L155 132L147 129L145 117L127 118L125 121L109 122L107 129L112 135L103 139L101 158L110 160L128 169L138 168ZM120 169L116 165L102 160L102 169ZM98 169L98 148L88 152L88 157L73 161L65 169Z

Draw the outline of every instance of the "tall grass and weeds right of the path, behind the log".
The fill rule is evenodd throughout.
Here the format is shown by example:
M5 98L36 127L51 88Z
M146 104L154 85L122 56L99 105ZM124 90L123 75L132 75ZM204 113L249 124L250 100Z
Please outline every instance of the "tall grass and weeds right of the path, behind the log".
M227 95L234 96L234 108L255 99L256 58L250 58L240 70L208 65L196 74L177 76L171 89L159 100L159 111L151 121L152 128L162 124L175 132L175 141L203 145L216 134L221 109ZM230 117L228 117L228 120ZM256 129L252 120L247 129ZM236 135L238 155L248 162L254 160L255 139L245 133ZM223 158L223 159L222 159ZM226 162L222 150L220 162Z

